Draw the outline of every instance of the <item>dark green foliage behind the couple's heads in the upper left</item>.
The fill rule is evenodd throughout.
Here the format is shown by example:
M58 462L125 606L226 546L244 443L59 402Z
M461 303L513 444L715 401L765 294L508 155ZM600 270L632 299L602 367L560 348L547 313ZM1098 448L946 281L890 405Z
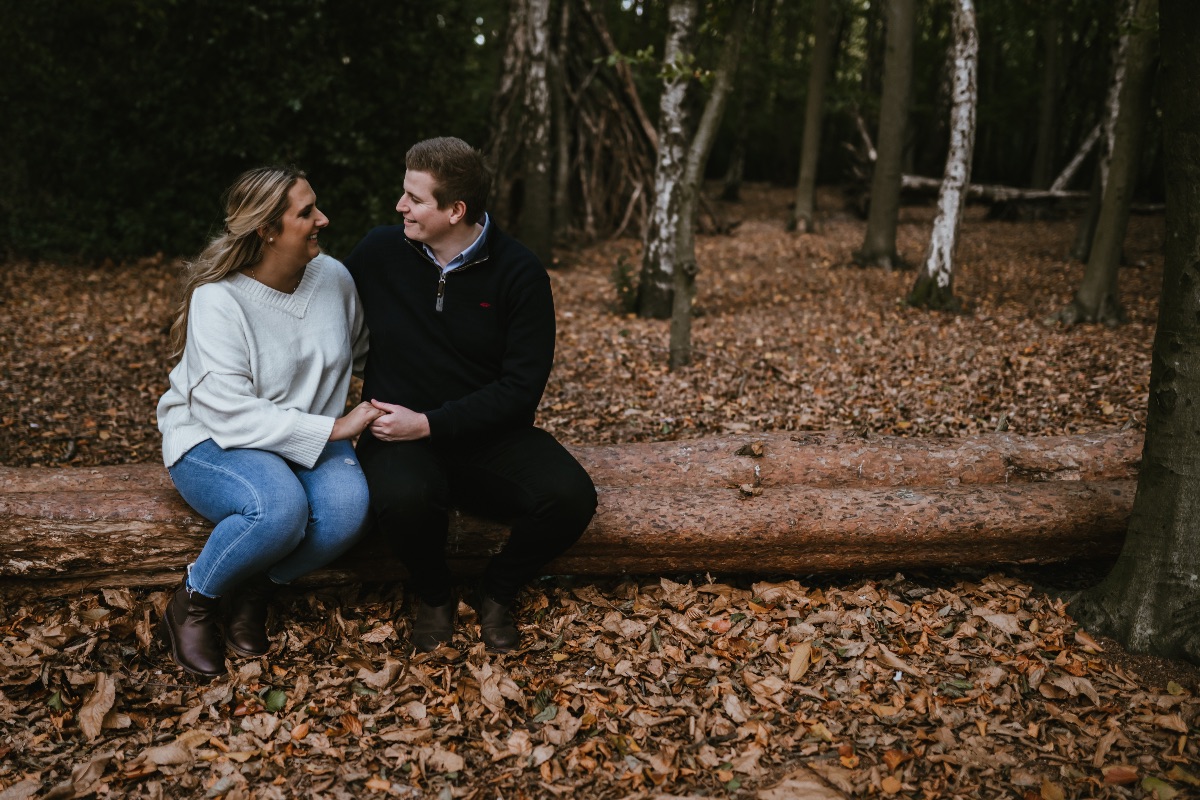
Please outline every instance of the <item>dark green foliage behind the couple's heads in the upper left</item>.
M0 254L199 251L244 169L308 172L344 255L420 138L481 145L499 1L0 0ZM478 34L482 35L482 34Z

